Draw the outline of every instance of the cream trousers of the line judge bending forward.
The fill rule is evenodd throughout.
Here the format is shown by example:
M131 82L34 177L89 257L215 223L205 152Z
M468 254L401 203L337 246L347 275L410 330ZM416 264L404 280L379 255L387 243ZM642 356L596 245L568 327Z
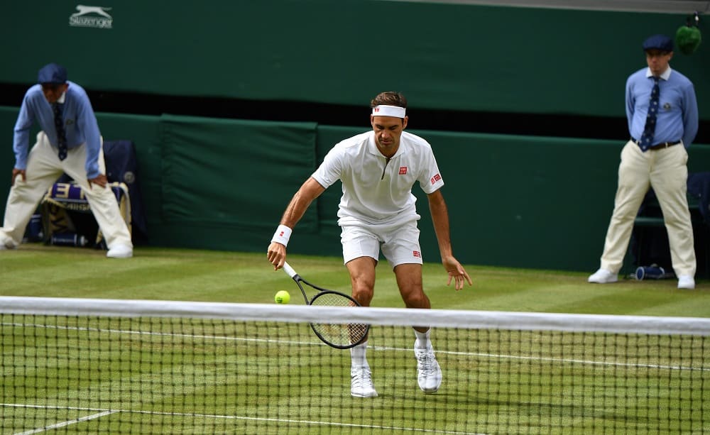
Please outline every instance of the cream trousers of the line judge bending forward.
M66 172L82 187L94 219L96 219L109 248L119 245L133 246L131 233L119 211L116 196L109 187L92 184L89 187L86 163L86 145L70 148L65 160L59 160L58 149L47 140L43 131L37 135L27 159L26 181L18 175L5 207L5 220L0 228L0 241L11 238L15 245L22 242L25 228L35 213L47 190ZM99 171L106 173L104 150L99 153Z

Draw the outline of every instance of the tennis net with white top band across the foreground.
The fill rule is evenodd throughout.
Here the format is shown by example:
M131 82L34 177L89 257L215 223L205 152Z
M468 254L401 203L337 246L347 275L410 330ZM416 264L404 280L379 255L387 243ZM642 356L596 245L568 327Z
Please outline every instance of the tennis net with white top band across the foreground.
M378 397L308 324L365 323ZM417 387L412 324L443 382ZM0 297L0 433L691 434L710 319Z

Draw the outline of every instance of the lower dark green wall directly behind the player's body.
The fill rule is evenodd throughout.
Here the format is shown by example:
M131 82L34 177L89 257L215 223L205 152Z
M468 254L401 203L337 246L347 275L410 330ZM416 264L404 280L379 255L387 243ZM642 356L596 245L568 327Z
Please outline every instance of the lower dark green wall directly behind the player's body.
M0 174L13 167L18 108L0 107ZM414 116L414 114L413 114ZM107 140L136 143L149 243L265 251L295 190L338 141L368 129L185 116L97 114ZM465 263L562 270L599 264L623 139L413 131L437 155L454 253ZM710 167L710 146L689 150L690 172ZM8 185L6 185L8 188ZM425 195L422 251L439 254ZM4 209L7 189L0 192ZM339 185L295 228L290 252L340 255Z

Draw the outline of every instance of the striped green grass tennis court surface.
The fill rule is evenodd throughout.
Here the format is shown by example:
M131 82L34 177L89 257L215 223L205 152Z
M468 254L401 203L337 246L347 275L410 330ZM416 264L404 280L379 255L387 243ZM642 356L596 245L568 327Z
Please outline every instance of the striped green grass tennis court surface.
M339 258L290 255L289 262L307 280L349 291ZM433 307L710 314L707 282L699 281L698 290L682 291L675 288L675 280L590 285L588 272L474 265L466 270L474 285L457 292L445 285L441 265L425 265L425 290ZM292 304L302 304L297 287L283 272L273 271L265 254L138 248L134 258L109 260L102 251L28 244L0 251L0 278L4 296L273 303L275 292L288 290ZM386 262L378 267L373 305L403 305ZM705 363L710 346L700 340L672 344L670 355L656 356L652 341L663 337L437 329L434 344L444 383L437 395L427 396L416 386L411 331L376 327L368 360L380 397L357 400L349 395L348 351L322 346L305 325L147 321L70 317L53 319L60 327L45 328L42 318L1 316L0 434L89 416L95 418L72 421L58 430L111 434L197 434L204 433L205 426L209 432L234 434L710 430L710 390L704 387L710 385ZM135 334L131 329L153 334ZM155 334L161 329L165 334ZM602 348L604 341L607 346ZM623 351L609 354L614 348ZM565 357L555 357L562 349ZM607 354L600 357L602 350ZM35 407L11 406L16 404Z

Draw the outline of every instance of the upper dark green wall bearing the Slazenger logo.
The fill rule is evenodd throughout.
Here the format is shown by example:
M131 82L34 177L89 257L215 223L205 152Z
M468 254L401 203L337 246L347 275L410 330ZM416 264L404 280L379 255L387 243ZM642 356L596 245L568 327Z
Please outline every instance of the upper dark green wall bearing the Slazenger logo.
M353 106L398 90L412 108L623 117L643 39L674 35L686 18L383 0L106 5L110 28L92 28L71 24L108 18L73 16L77 1L6 2L0 83L30 84L56 61L94 90ZM672 61L694 81L702 119L709 50Z

